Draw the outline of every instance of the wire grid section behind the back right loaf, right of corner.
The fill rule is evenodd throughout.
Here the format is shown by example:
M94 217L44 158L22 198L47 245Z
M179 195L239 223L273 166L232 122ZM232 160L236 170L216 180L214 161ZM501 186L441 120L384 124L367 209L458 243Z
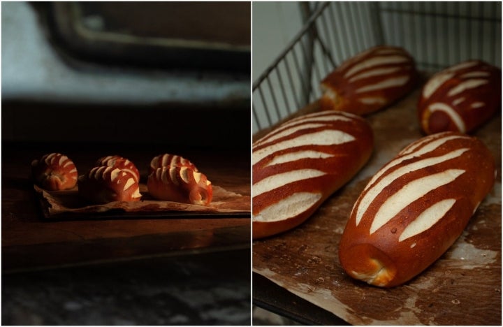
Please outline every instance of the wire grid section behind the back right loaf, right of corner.
M379 3L383 41L406 48L423 71L467 59L501 67L501 14L501 1Z

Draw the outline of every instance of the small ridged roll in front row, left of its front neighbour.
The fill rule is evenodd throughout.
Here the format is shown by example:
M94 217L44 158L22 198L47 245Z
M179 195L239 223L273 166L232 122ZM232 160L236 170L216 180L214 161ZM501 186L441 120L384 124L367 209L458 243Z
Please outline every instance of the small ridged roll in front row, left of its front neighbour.
M129 170L108 166L94 167L78 179L82 198L92 203L140 201L140 186Z

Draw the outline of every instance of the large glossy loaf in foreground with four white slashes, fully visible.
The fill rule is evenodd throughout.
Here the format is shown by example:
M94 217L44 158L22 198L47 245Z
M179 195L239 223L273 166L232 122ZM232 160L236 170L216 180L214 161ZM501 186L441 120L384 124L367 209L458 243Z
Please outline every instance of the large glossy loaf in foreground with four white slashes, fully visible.
M480 140L455 132L416 140L354 204L340 240L342 268L376 286L409 281L451 247L494 181L494 158Z

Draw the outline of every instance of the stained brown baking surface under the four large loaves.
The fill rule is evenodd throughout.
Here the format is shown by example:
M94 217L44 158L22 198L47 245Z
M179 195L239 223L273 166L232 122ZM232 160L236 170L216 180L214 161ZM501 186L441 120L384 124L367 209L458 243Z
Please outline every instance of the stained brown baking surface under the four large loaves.
M495 187L455 244L411 282L380 289L345 275L337 247L353 203L370 177L421 138L419 90L367 117L374 153L367 166L298 228L253 242L253 270L350 324L500 325L501 115L474 133L493 152ZM316 110L310 106L307 111Z

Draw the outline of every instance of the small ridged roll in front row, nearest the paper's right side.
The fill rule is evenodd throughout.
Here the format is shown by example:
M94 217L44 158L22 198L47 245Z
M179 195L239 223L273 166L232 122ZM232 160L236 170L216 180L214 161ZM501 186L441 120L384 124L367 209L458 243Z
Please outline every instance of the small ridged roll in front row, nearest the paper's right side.
M203 173L189 166L156 168L147 180L150 195L158 200L210 205L212 184Z

